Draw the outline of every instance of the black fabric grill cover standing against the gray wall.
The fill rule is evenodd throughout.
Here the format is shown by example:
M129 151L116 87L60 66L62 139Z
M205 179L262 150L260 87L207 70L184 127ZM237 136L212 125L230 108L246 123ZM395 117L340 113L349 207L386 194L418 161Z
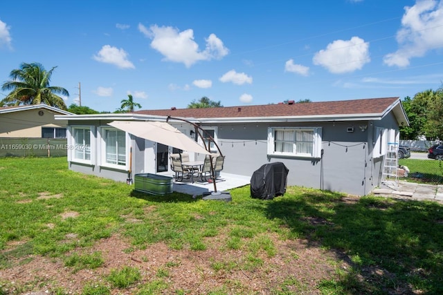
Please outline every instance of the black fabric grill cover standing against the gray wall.
M251 197L271 200L286 192L289 170L282 162L264 164L251 177Z

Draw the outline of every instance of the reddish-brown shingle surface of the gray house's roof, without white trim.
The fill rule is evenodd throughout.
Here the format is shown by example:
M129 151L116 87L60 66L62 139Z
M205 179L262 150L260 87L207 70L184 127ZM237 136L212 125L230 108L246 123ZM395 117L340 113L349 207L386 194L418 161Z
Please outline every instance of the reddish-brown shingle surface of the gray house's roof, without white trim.
M382 114L399 97L341 100L335 102L304 102L289 104L266 104L257 106L224 106L219 108L170 108L163 110L142 110L134 114L202 118L236 117L299 117Z

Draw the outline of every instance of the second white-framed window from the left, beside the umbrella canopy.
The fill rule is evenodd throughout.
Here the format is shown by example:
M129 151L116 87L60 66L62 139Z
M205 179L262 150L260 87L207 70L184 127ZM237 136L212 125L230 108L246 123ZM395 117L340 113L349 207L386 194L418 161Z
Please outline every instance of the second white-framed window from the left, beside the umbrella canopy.
M102 164L126 166L126 133L117 129L102 129Z

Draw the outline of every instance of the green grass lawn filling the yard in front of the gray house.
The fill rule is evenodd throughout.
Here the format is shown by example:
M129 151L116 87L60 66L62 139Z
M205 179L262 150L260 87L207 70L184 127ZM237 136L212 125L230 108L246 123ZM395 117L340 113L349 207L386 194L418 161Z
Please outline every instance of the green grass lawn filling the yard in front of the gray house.
M206 251L237 255L214 256L210 272L192 269L204 281L217 280L207 294L261 294L247 282L273 269L279 276L267 294L443 294L443 207L437 202L351 198L302 187L268 201L251 198L248 186L230 191L232 202L150 196L132 191L133 185L69 171L66 158L0 159L0 182L1 295L44 284L51 294L69 294L51 287L57 282L17 283L1 274L38 257L73 273L93 273L111 262L91 249L112 236L127 239L129 253L165 245L174 253L189 251L197 261ZM319 280L296 274L293 267L302 267L309 255L282 248L295 242L323 253L317 266L309 265L313 274L321 271L323 255L334 272ZM282 251L288 256L280 261ZM149 262L147 255L139 263ZM130 265L112 269L85 282L81 294L195 294L171 289L179 264L165 263L149 277Z

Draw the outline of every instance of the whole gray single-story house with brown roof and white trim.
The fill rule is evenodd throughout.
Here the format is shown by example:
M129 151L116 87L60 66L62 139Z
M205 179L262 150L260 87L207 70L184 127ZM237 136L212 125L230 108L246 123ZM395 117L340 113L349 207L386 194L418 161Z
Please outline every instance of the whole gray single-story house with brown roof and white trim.
M169 164L160 162L161 155L173 149L107 123L165 122L168 116L168 122L189 137L201 141L191 124L174 117L198 124L213 136L226 156L223 172L251 176L262 164L283 162L289 169L288 185L359 196L379 185L388 145L398 144L399 126L409 124L398 97L56 118L68 120L68 144L78 146L68 153L70 169L125 181L129 162L133 173L170 171ZM203 155L191 157L201 160Z

